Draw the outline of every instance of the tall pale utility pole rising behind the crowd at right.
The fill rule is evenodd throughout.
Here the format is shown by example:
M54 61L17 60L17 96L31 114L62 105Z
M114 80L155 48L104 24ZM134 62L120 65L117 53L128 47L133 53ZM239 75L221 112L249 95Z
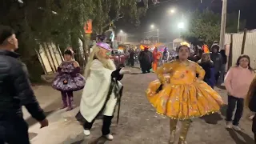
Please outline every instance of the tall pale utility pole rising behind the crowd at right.
M221 50L224 49L224 45L225 45L226 5L227 5L227 0L222 0L222 26L221 26L221 33L220 33L220 40L219 40L219 46Z

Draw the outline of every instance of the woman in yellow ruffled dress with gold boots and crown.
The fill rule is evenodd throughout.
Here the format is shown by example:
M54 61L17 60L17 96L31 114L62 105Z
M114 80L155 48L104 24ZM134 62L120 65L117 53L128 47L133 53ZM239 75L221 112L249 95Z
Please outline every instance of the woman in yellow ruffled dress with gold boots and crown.
M189 54L188 46L179 46L178 59L160 67L156 71L158 80L150 82L146 90L146 96L158 114L170 118L170 144L174 143L179 120L182 130L178 144L186 144L190 118L218 112L223 104L221 96L202 81L205 75L202 67L187 59ZM196 74L199 74L198 78Z

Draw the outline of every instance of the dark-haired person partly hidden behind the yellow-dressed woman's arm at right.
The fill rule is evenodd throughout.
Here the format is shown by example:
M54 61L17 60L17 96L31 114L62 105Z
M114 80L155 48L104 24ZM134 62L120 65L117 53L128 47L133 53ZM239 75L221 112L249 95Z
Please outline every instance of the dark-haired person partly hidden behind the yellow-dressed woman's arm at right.
M206 71L205 78L203 81L214 89L215 77L214 77L214 62L210 59L209 53L202 54L202 58L198 61L198 64L202 66L203 70Z

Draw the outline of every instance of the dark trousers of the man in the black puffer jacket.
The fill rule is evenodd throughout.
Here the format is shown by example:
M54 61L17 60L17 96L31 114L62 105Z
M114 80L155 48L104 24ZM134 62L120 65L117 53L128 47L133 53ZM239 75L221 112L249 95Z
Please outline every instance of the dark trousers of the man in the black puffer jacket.
M0 144L30 144L28 125L23 118L0 121Z

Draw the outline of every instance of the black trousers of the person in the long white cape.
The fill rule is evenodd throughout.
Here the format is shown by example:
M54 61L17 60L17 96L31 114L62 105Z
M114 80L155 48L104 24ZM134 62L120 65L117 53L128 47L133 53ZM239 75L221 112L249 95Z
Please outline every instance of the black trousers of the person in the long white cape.
M112 122L112 118L113 116L106 116L106 115L103 116L102 135L110 134L110 125ZM84 130L90 130L94 124L94 121L95 121L95 118L92 122L85 122L83 124Z

